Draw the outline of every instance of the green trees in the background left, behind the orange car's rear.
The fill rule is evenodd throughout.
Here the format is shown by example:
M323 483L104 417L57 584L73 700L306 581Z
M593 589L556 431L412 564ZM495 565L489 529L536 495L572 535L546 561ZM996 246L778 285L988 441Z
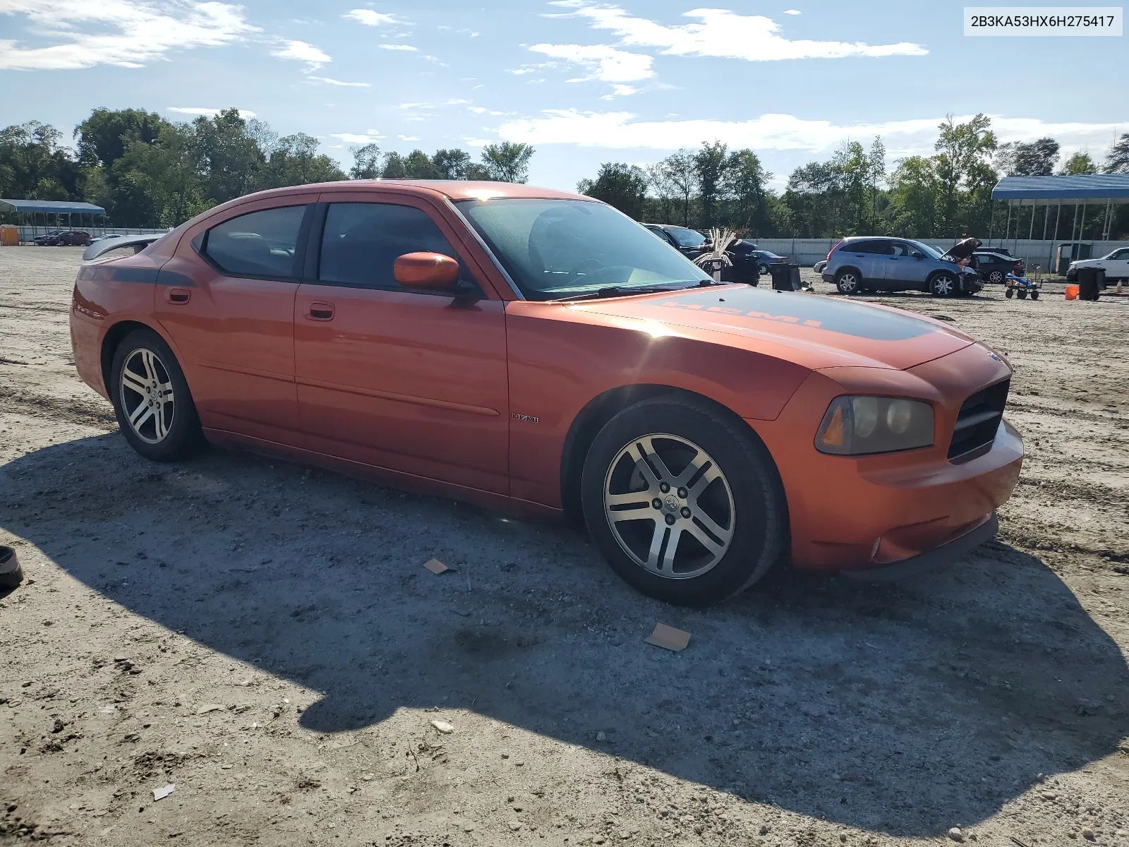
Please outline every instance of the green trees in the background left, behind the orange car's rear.
M253 191L336 180L436 178L525 182L534 149L487 145L478 161L466 150L403 155L375 143L351 148L345 173L321 142L303 132L279 137L238 110L190 122L155 112L96 108L75 128L75 146L50 124L0 130L0 197L86 200L117 226L181 224Z

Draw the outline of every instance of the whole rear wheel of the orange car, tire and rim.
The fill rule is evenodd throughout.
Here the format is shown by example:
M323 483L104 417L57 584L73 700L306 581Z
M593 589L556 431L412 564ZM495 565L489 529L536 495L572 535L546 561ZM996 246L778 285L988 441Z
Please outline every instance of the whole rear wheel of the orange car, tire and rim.
M200 419L173 350L156 332L135 330L114 352L114 413L125 439L156 462L191 455L202 442Z

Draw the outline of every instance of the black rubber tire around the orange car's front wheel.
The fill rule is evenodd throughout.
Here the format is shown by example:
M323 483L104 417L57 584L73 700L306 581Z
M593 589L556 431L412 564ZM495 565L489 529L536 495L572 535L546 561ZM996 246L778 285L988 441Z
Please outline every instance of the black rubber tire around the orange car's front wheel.
M648 482L641 473L641 463L624 456L624 451L642 443L655 446L656 453L667 462L666 471L676 477L680 471L690 472L690 489L668 487L666 492L660 494L655 481ZM680 468L677 461L677 451L684 449L688 443L690 449L698 447L701 451L693 454L701 459L701 464L694 466L714 468L721 473L720 480L710 481L697 495L693 489L699 488L695 480L702 471L693 472L689 460ZM673 445L674 451L660 452L660 444ZM683 456L686 455L690 454L683 452ZM655 479L663 475L662 471L655 472L649 463L647 468ZM627 478L622 477L623 472ZM621 479L638 478L640 484L647 486L646 489L630 488L641 495L640 503L633 507L633 514L640 517L625 521L634 526L619 532L612 529L604 497L605 486L615 484L616 474L621 474ZM647 495L654 496L654 499L648 500ZM712 505L723 503L721 512L727 514L711 514L710 496L714 497ZM785 549L787 509L784 489L768 449L739 420L690 398L667 395L644 400L612 418L588 449L580 480L580 498L588 532L612 569L644 594L676 605L703 606L732 597L763 577ZM666 506L666 499L675 503ZM654 503L663 505L654 507ZM723 550L718 555L699 544L697 539L704 530L695 531L688 524L697 522L698 527L706 527L707 524L701 523L697 515L691 516L688 508L679 512L679 504L700 508L701 517L708 517L725 529L729 533L728 547L718 544ZM680 519L679 514L685 519ZM664 522L658 519L659 516ZM674 521L679 522L674 529L682 530L679 535L671 534L666 526ZM616 525L623 526L623 523ZM621 539L632 534L631 530L634 530L636 538L641 539L640 549L646 550L650 545L664 561L669 552L666 549L668 543L677 539L671 555L671 575L648 569L641 557L629 552L631 545L625 540L621 542ZM688 532L694 540L688 540L683 547L682 539ZM655 540L660 536L660 545L656 548ZM699 564L701 559L690 556L685 560L690 567L676 570L682 567L675 561L677 556L682 551L693 553L695 550L704 552L711 564L704 565L702 573L692 575L694 566L703 566ZM679 573L682 575L673 575Z

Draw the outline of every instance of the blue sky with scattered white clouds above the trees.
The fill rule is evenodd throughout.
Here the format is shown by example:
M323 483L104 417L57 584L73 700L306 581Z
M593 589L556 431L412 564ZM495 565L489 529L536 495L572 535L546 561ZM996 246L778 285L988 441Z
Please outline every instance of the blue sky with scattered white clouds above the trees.
M790 3L790 5L789 5ZM966 37L954 2L0 0L0 126L69 136L98 106L236 107L280 134L476 154L533 145L530 182L750 147L782 186L844 140L891 165L983 112L1001 142L1095 158L1129 132L1126 36Z

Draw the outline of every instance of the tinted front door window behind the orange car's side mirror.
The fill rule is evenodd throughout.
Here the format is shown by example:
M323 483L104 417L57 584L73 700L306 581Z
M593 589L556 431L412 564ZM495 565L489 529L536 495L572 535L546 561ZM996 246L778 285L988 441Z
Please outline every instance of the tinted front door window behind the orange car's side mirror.
M405 253L450 256L460 263L460 285L480 290L431 216L395 203L331 203L317 278L325 285L400 289L393 263Z

